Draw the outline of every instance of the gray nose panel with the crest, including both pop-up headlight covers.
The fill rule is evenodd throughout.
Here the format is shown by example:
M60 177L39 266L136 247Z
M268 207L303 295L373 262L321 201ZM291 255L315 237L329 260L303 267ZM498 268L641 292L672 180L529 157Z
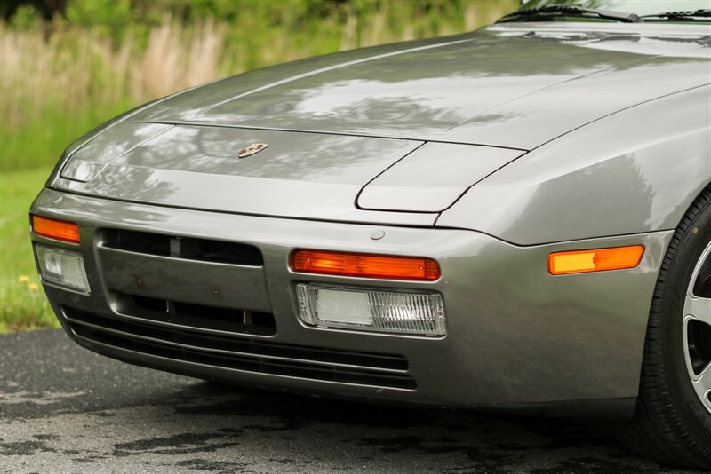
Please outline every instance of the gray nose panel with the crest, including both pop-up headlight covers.
M240 157L249 144L266 147ZM400 138L122 122L72 154L54 187L278 217L390 222L397 217L379 211L411 211L395 223L432 225L468 186L521 154Z

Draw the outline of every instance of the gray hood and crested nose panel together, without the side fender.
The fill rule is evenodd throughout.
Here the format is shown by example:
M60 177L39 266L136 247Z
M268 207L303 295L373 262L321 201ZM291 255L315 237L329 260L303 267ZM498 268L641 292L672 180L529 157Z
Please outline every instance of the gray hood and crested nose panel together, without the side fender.
M707 28L580 28L494 26L210 83L111 123L71 150L51 186L189 209L434 225L527 150L711 81ZM237 156L254 143L269 146Z

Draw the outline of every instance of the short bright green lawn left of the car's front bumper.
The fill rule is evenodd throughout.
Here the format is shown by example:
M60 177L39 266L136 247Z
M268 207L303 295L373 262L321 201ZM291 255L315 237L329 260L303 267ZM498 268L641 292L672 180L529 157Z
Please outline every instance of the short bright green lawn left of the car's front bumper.
M59 326L39 284L29 205L51 168L0 174L0 333Z

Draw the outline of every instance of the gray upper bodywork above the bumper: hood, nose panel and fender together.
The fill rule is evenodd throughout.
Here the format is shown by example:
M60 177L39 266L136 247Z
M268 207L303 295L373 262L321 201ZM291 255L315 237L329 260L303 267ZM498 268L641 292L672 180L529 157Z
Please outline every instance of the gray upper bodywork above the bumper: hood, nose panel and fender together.
M671 229L686 209L682 204L711 181L711 92L702 87L711 83L709 33L708 25L507 24L269 67L138 110L127 120L139 123L120 123L92 140L124 154L105 160L90 154L90 141L62 176L71 178L87 154L102 163L98 176L87 183L55 177L50 186L253 215L426 226L436 220L526 245ZM435 77L439 83L432 83ZM159 125L140 121L178 125L155 129ZM614 148L608 137L622 126L628 131L614 133ZM163 133L127 150L126 129L142 137L144 127ZM679 137L687 129L697 134ZM544 146L557 136L563 137ZM659 154L678 149L675 140L692 148L673 158L683 166L670 189L672 158ZM421 176L412 178L416 170L408 163L425 162L428 149L437 163L453 145L438 150L427 143L411 154L425 141L502 149L472 148L475 170L458 166L451 182L427 187ZM236 151L255 142L272 147L236 162ZM479 160L490 154L513 159L530 149L438 218L469 186L510 161L489 166ZM448 160L450 154L442 158ZM523 178L516 176L519 169ZM568 176L555 176L563 172ZM588 172L595 178L585 178ZM538 181L525 178L537 175ZM640 194L627 199L620 181L637 182ZM396 194L380 187L394 184ZM534 199L523 215L524 194ZM576 195L580 200L571 206ZM599 196L604 199L590 199ZM522 218L512 222L511 215ZM586 215L595 219L580 222ZM504 230L512 225L520 228Z

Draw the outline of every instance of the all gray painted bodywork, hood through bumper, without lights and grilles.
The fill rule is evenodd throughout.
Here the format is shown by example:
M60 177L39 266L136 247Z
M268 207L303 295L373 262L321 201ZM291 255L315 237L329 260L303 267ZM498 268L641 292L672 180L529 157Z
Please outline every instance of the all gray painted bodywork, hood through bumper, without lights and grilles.
M711 183L710 33L708 25L496 25L269 67L156 101L70 146L37 197L33 213L81 225L92 295L45 290L56 311L70 304L122 318L108 287L135 291L140 274L151 295L273 312L275 341L402 354L418 388L197 366L71 335L150 367L391 401L619 399L629 410L661 259ZM255 142L270 147L236 159ZM420 165L429 171L418 174ZM132 265L135 257L101 247L95 231L107 226L247 242L265 262L257 271L163 257ZM378 230L385 237L371 240ZM547 273L553 251L640 243L635 269ZM295 248L425 253L443 277L300 275L287 268ZM440 291L450 332L308 328L293 297L300 281ZM215 300L215 286L229 296Z

